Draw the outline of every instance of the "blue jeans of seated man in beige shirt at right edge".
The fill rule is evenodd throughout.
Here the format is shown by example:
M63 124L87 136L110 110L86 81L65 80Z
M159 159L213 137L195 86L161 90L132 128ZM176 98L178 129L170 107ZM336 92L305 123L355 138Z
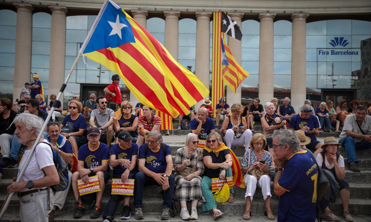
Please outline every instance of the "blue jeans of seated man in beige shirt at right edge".
M347 151L348 163L358 162L357 155L355 154L355 149L371 149L371 142L367 142L362 139L360 142L355 142L353 137L344 137L339 140L342 147L345 147Z

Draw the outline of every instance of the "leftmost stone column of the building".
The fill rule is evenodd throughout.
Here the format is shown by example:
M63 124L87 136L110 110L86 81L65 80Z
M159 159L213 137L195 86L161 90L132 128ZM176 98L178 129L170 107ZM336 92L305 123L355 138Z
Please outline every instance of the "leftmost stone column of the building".
M13 3L17 9L16 49L14 55L13 101L19 99L24 83L31 79L32 10L31 4Z

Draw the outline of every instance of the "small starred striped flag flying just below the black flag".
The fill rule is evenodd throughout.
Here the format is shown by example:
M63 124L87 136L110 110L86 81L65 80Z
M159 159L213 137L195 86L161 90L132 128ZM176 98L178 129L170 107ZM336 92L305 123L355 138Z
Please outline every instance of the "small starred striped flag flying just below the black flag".
M222 53L222 74L223 80L226 85L229 86L236 94L237 87L242 83L242 81L249 76L249 73L244 70L237 62L234 60L231 50L229 49L226 40L222 38L221 41L221 53Z

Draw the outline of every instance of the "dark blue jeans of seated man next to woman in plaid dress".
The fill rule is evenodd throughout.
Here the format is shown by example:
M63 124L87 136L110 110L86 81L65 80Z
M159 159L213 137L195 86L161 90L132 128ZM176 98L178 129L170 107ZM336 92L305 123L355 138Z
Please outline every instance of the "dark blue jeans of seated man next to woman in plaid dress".
M171 201L173 200L174 194L174 175L171 174L169 178L169 189L167 189L164 193L164 202L162 202L162 206L171 208ZM158 185L154 178L147 176L144 172L138 172L135 175L135 183L134 183L134 207L142 207L142 197L143 197L143 189L144 186L150 185Z

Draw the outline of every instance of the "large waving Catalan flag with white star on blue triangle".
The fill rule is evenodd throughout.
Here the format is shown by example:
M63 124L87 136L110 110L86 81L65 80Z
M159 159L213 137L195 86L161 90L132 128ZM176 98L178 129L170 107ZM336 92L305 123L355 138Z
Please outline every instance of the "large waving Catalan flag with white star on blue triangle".
M175 118L207 97L209 89L196 75L117 4L106 0L100 14L81 51L119 74L141 103Z

